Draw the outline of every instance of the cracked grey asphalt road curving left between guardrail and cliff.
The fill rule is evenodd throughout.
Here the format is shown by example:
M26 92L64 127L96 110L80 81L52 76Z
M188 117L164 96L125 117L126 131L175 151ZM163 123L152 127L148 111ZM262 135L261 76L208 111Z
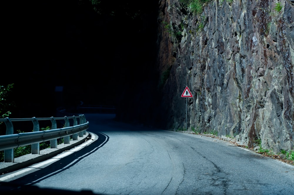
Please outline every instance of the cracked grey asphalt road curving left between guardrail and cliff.
M58 161L0 176L0 190L101 195L294 192L290 164L211 137L122 124L111 114L85 116L92 135L86 147L68 151Z

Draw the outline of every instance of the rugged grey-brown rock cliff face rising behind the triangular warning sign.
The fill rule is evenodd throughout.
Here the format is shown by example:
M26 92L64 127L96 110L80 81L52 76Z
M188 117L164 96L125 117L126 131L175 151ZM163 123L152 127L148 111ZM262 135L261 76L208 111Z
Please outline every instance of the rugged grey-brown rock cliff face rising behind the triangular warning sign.
M186 128L188 86L188 130L293 149L293 1L187 2L159 1L162 127Z

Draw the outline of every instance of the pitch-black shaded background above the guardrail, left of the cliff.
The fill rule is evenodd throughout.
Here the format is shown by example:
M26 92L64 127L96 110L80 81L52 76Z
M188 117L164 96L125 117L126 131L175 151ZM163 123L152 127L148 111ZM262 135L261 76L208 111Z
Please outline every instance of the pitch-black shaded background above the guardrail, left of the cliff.
M156 93L158 3L99 2L3 4L9 14L1 84L14 83L11 118L55 116L57 107L75 109L81 101L130 117L130 106L146 105L142 92Z

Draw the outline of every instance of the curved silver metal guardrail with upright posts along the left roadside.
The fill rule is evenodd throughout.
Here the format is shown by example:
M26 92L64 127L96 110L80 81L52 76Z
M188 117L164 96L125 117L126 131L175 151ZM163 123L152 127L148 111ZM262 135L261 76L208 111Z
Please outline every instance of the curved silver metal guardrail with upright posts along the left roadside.
M73 119L73 126L69 126L69 119ZM79 125L78 121L79 119ZM40 131L39 122L41 120L50 120L51 130ZM57 129L56 120L64 120L65 127ZM34 124L33 132L14 134L12 122L32 121ZM50 148L57 148L57 139L64 138L64 144L70 143L70 136L73 140L86 135L89 128L89 122L84 115L72 117L50 117L50 118L5 118L0 119L6 125L6 135L0 136L0 151L4 150L4 162L14 162L14 148L31 145L32 154L40 154L40 143L50 140Z

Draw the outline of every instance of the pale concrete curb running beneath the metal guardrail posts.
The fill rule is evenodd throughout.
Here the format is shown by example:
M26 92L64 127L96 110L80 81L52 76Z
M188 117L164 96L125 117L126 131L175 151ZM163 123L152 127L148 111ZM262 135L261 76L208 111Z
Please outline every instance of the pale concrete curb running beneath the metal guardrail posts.
M15 158L14 162L0 162L0 174L13 172L32 164L50 159L57 154L82 144L88 139L88 136L89 133L86 132L86 135L83 135L83 137L78 137L78 140L71 140L69 144L59 144L57 148L46 148L44 150L40 150L40 154L26 154L24 156Z

